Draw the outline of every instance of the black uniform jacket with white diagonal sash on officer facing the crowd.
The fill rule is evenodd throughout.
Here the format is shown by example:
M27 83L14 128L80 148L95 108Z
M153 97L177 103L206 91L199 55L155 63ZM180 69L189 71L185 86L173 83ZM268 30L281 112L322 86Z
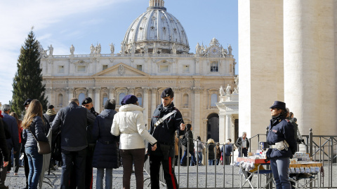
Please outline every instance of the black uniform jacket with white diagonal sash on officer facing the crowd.
M176 110L176 113L173 113L169 118L166 118L161 124L159 124L154 129L154 124L157 123L159 118L163 118L166 114L170 113L171 111ZM161 148L160 145L169 145L172 146L172 149L169 153L169 157L174 156L174 135L177 130L178 135L185 134L185 131L180 130L180 123L184 123L183 116L181 116L180 111L174 107L173 102L167 109L164 109L163 104L157 106L157 109L154 111L152 120L151 120L151 127L150 127L150 134L157 139L157 149L156 151L151 150L151 144L149 144L149 149L147 150L150 154L161 155Z

